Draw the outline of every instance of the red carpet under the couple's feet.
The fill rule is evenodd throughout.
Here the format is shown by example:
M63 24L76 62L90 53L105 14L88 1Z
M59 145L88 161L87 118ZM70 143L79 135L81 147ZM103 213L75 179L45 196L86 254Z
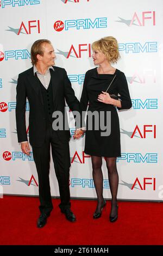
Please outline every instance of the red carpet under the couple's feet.
M42 229L36 227L39 199L0 199L1 245L163 245L163 204L118 202L119 215L109 222L110 201L102 217L93 220L96 202L71 200L77 222L68 222L53 199L54 209Z

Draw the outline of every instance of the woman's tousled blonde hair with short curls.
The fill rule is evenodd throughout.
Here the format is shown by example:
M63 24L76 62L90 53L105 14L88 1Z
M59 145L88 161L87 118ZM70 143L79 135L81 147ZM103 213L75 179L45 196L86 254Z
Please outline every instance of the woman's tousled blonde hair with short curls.
M120 58L118 42L113 36L105 36L104 38L93 42L92 50L103 52L111 63L117 63L117 60Z

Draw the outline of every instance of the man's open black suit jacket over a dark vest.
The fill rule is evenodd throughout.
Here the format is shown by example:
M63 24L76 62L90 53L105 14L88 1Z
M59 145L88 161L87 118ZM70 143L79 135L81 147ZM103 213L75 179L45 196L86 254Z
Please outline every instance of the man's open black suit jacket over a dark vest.
M51 71L53 88L54 111L61 111L65 115L65 99L72 111L79 111L79 101L74 95L71 82L67 77L65 69L54 66ZM26 133L26 99L29 101L29 142L34 147L41 147L45 141L46 119L43 108L43 100L39 81L34 76L33 68L30 68L18 75L16 87L16 126L18 142L28 141ZM70 139L69 130L58 130L58 138L62 142Z

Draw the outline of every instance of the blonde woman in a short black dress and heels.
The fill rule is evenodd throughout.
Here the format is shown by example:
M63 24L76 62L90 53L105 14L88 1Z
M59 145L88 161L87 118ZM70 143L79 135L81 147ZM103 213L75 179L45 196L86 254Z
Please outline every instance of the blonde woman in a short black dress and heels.
M116 157L121 156L120 125L116 107L118 109L130 108L131 99L124 73L111 66L111 63L116 63L120 58L117 40L112 36L106 36L93 42L92 50L93 62L98 65L98 68L88 70L85 74L80 107L82 111L86 111L89 102L88 112L97 111L99 114L103 112L104 123L107 126L111 125L111 133L108 136L102 136L102 131L95 129L95 122L92 130L89 130L88 126L91 120L87 116L84 152L91 155L93 181L97 193L97 207L93 218L101 217L102 210L106 205L103 198L103 174L101 169L102 157L105 157L112 196L109 219L110 222L114 222L118 218ZM106 92L107 89L108 92ZM112 94L120 94L121 100L118 97L117 99L112 98L110 96ZM110 121L107 123L108 119L106 120L106 112L109 111L111 112L111 124Z

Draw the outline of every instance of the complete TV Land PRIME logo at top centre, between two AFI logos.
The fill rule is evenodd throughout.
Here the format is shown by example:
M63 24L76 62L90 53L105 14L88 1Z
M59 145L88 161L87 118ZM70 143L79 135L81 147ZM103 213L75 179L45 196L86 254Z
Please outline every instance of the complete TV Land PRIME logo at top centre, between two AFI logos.
M71 28L74 29L91 29L91 28L106 28L107 27L107 18L106 17L99 17L95 20L91 19L79 19L79 20L66 20L63 21L55 21L54 22L54 29L57 32L61 32L65 29L65 31L70 30Z

